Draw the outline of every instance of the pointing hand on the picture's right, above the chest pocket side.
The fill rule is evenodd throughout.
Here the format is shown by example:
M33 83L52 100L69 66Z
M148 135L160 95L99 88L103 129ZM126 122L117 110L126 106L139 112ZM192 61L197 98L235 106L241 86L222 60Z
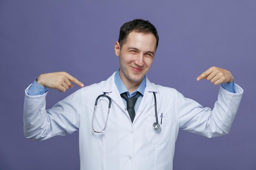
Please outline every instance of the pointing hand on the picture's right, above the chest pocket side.
M233 82L234 77L230 71L213 66L196 78L197 81L201 79L207 79L213 84L218 85Z

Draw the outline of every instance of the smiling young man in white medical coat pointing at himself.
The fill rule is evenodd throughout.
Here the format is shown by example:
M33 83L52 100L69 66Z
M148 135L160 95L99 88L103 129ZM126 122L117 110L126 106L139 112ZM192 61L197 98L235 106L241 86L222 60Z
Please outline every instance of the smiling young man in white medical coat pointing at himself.
M198 76L221 84L213 110L203 108L146 78L157 44L155 27L133 20L121 26L115 42L120 69L106 81L83 87L65 72L40 75L25 91L25 136L44 140L79 129L81 170L170 170L179 129L206 137L227 134L243 94L232 74L211 67ZM71 82L83 88L45 110L47 88L65 92Z

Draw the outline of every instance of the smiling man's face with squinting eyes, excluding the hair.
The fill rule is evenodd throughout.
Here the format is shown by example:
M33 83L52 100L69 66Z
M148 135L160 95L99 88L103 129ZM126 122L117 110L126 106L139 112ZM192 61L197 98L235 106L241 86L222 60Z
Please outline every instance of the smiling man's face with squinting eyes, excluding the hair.
M115 54L119 56L119 74L124 84L137 84L150 69L156 51L156 38L152 33L131 32L120 49L115 44Z

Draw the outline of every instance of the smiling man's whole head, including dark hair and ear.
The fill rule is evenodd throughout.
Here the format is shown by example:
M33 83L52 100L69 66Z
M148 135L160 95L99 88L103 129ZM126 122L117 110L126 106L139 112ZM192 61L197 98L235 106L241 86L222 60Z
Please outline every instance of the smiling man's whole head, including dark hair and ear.
M157 44L157 30L150 22L133 20L121 26L115 54L119 56L119 75L126 88L140 84L153 63Z

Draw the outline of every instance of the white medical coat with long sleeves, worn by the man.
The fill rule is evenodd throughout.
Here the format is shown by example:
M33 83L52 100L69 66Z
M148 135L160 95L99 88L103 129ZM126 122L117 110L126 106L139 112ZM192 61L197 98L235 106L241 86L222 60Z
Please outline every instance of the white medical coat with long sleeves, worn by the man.
M243 94L235 84L236 93L220 87L213 110L203 108L173 88L150 83L146 89L133 124L114 83L115 73L106 81L79 89L45 110L44 95L29 96L25 91L24 132L33 140L62 136L79 129L81 170L172 170L175 141L179 129L206 137L229 132ZM92 132L95 99L106 92L112 105L105 133ZM162 131L153 129L155 106ZM95 130L102 130L107 116L108 99L98 101Z

